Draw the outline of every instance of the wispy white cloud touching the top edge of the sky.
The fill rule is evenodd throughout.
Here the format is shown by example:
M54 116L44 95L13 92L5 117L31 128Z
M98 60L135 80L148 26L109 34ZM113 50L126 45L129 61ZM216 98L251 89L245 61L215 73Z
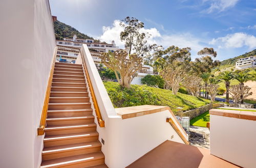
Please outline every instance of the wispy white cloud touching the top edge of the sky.
M210 7L206 9L204 12L212 13L212 12L222 12L226 9L234 7L239 0L203 0L203 3L209 2Z

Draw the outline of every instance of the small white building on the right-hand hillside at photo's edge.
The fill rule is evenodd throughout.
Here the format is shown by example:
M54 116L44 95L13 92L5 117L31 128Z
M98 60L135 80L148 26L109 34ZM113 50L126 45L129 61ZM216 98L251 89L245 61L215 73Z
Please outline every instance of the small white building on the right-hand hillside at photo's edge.
M236 62L236 68L237 69L246 69L246 68L256 68L256 55L254 55L253 57L247 57L247 58L242 58L239 59Z

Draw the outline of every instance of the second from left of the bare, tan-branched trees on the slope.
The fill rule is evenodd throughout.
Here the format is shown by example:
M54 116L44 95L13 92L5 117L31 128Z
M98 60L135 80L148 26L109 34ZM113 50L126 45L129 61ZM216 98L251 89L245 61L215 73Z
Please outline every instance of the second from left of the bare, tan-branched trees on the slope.
M172 88L173 94L177 95L180 89L180 83L184 79L185 71L182 68L166 67L160 71L161 76L167 85Z

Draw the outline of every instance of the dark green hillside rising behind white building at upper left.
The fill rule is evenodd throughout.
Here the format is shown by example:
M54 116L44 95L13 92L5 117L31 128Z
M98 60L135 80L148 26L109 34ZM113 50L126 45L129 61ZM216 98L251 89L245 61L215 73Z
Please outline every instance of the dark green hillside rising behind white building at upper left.
M73 38L74 35L76 35L80 39L93 39L88 35L80 33L74 27L67 25L65 23L62 23L58 20L54 21L53 25L54 25L55 36L57 40L62 40L63 38Z

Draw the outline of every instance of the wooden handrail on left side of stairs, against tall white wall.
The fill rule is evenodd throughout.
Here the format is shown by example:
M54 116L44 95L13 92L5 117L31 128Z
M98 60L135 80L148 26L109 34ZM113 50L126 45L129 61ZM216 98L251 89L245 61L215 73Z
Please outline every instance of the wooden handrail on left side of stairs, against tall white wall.
M54 52L54 56L53 56L53 60L52 60L52 66L51 66L51 70L50 70L50 75L48 78L48 83L47 83L47 88L46 88L44 105L42 106L40 124L39 124L39 127L37 128L37 135L45 134L46 118L47 118L49 98L50 98L50 94L51 94L52 77L53 77L54 65L55 65L55 61L56 61L56 53L57 53L57 49L55 48L55 52Z

